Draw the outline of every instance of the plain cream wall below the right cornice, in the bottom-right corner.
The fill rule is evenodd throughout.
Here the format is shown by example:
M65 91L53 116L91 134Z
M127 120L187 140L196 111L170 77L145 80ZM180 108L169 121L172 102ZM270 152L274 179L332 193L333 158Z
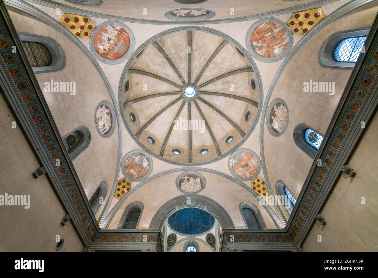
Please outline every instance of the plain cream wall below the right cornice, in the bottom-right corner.
M367 125L356 151L347 164L356 171L342 174L320 212L327 223L316 221L304 244L304 251L377 252L378 219L378 114ZM319 235L321 241L318 240Z

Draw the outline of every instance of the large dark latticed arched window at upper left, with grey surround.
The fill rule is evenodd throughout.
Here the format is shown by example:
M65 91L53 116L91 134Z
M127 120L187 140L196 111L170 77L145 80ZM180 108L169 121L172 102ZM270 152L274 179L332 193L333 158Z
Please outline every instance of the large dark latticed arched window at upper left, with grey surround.
M61 71L66 65L63 48L50 37L19 33L19 38L35 74Z

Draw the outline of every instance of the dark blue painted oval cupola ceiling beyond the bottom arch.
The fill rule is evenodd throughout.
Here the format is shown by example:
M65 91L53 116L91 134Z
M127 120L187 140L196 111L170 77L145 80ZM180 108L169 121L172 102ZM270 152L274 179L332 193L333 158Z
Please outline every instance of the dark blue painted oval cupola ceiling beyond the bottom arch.
M194 207L182 208L168 218L170 229L184 236L203 235L209 232L214 224L214 216Z

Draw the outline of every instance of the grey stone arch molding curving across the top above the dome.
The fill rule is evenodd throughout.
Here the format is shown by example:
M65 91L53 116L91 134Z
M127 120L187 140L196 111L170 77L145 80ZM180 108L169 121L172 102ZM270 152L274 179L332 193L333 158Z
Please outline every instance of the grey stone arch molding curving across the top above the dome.
M23 1L23 0L5 0L5 2L13 2L13 1ZM186 21L186 22L178 22L178 21L173 21L173 20L145 20L145 19L135 19L132 17L123 17L123 16L116 16L116 15L110 15L110 14L102 14L99 12L93 12L93 11L88 11L85 9L80 9L80 8L75 8L70 5L62 4L55 2L53 0L29 0L29 2L36 3L38 5L42 6L47 6L53 9L59 8L62 11L66 11L69 13L73 14L85 14L89 17L98 17L98 18L103 18L103 19L108 19L108 20L116 20L116 21L122 21L122 22L135 22L135 23L145 23L145 24L161 24L161 25L180 25L180 24L216 24L216 23L229 23L229 22L242 22L242 21L247 21L247 20L253 20L253 19L261 19L265 17L274 17L277 15L283 15L283 14L291 14L293 12L297 11L304 11L307 9L313 9L313 8L318 8L319 6L322 5L327 5L329 3L336 2L338 0L314 0L313 2L310 3L304 3L304 4L299 4L296 6L292 6L290 8L284 8L284 9L279 9L277 11L273 12L263 12L261 14L255 14L255 15L246 15L242 17L234 17L234 18L229 18L229 19L214 19L214 20L201 20L197 22L192 22L192 21ZM373 1L373 0L371 0ZM191 8L188 6L188 8Z

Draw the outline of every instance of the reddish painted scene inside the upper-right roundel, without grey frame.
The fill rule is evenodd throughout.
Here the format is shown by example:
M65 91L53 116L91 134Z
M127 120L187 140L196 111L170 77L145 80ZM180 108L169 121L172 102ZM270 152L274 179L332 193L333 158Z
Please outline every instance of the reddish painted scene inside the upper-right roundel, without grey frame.
M264 22L252 32L251 44L254 51L262 57L275 57L289 44L287 30L278 22Z

